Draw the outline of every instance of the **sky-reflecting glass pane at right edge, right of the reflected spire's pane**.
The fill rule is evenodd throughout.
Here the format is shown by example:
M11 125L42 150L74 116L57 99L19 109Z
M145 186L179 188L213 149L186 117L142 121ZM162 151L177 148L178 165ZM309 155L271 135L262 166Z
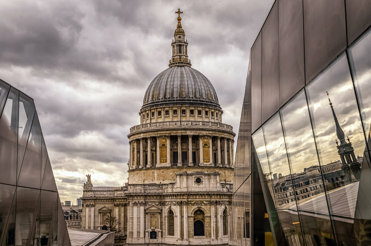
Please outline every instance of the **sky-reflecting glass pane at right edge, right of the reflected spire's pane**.
M365 131L370 130L371 122L371 30L364 38L349 49L357 94L362 110Z

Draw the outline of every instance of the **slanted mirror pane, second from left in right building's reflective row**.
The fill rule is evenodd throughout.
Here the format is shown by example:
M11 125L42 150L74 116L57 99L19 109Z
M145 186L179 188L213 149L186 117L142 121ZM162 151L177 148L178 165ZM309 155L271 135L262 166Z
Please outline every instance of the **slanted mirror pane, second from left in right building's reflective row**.
M283 139L279 114L275 114L263 125L268 163L276 199L278 218L289 245L302 245L303 238L296 208L292 177ZM275 178L277 175L277 178Z

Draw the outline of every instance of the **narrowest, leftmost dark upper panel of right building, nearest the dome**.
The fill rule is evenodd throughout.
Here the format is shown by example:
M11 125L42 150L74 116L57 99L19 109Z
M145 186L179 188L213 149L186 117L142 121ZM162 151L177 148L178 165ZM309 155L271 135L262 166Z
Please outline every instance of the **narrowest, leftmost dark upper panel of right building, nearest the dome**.
M262 124L262 32L251 48L251 130Z

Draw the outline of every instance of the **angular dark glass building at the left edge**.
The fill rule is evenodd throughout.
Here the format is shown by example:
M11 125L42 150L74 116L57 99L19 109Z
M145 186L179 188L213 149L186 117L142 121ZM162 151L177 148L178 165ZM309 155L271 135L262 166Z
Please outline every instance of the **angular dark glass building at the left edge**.
M0 245L71 245L33 99L2 80Z

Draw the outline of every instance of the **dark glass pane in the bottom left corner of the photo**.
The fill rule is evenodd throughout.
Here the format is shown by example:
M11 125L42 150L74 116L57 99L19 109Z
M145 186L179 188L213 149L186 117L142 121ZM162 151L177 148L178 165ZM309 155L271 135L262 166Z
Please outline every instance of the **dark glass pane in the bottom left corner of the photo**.
M15 186L0 184L0 243L4 238L2 245L14 244L15 192Z

